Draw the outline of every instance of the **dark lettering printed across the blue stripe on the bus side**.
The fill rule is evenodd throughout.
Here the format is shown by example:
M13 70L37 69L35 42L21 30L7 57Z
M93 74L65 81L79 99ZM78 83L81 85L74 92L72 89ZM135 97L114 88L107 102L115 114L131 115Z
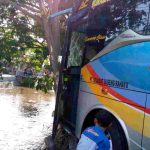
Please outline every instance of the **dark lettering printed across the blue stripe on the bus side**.
M100 85L108 85L110 87L118 87L123 89L128 89L128 82L110 80L110 79L99 79L95 77L90 77L90 81L92 83L100 84Z

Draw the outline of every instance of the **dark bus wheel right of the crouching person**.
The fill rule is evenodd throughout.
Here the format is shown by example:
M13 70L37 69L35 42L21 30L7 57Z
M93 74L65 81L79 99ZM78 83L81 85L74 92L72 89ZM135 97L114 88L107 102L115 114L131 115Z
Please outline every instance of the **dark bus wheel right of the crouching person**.
M116 118L113 119L112 126L108 129L107 135L109 136L112 150L128 150L126 136Z

